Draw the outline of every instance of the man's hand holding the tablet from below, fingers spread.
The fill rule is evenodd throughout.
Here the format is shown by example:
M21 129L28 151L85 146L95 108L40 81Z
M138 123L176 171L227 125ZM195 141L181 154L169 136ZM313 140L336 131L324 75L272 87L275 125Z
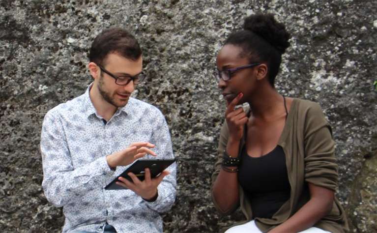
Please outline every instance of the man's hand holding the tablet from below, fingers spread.
M151 178L149 169L145 168L145 179L143 181L135 174L128 173L127 175L131 177L133 182L130 182L126 178L119 177L119 181L117 181L116 184L134 191L145 200L151 200L157 195L157 186L161 183L162 179L169 174L169 171L164 170L160 175Z

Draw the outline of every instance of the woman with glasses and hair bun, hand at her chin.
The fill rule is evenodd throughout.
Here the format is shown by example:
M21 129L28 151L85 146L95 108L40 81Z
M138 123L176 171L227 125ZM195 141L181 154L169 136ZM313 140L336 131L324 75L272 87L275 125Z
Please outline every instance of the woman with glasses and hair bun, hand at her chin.
M240 206L246 217L227 233L348 230L334 197L338 167L322 110L274 88L289 38L273 15L249 16L216 59L227 109L212 198L221 213ZM249 110L235 108L246 102Z

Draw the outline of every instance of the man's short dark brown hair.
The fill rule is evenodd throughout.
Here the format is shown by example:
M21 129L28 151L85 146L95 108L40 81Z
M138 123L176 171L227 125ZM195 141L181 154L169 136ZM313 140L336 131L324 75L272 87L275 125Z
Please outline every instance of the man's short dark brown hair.
M136 38L127 30L110 28L103 30L95 37L91 44L89 60L96 64L102 64L110 53L117 53L124 58L137 60L142 55L142 50Z

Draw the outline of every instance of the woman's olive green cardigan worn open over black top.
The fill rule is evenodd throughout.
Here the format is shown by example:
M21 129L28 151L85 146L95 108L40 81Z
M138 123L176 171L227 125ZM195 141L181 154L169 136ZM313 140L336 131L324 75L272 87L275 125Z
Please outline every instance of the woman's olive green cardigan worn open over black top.
M220 133L217 149L218 160L212 175L212 184L220 172L227 141L228 126L225 122ZM245 144L245 139L242 139L240 144L241 148ZM338 185L338 166L334 155L331 127L325 120L318 104L308 100L293 99L278 145L283 147L286 154L291 187L290 199L271 219L255 218L256 224L262 232L268 232L283 223L309 201L310 193L304 189L307 182L333 191L336 191ZM212 200L222 214L230 214L237 207L241 208L246 220L235 225L252 220L251 205L244 195L242 187L239 186L239 203L226 212L219 208L213 195ZM344 209L337 199L334 200L332 210L314 226L332 233L348 231Z

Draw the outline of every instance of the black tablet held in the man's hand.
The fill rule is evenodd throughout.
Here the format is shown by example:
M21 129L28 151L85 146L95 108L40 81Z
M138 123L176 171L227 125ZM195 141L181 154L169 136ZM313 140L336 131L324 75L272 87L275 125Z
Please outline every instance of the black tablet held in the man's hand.
M123 186L117 185L116 181L119 181L120 176L128 179L132 182L128 173L135 174L140 180L144 180L145 168L149 168L150 177L156 177L162 171L167 169L172 163L175 162L175 159L140 159L133 163L129 168L127 168L122 174L118 175L113 181L106 185L106 190L116 190L116 189L127 189Z

